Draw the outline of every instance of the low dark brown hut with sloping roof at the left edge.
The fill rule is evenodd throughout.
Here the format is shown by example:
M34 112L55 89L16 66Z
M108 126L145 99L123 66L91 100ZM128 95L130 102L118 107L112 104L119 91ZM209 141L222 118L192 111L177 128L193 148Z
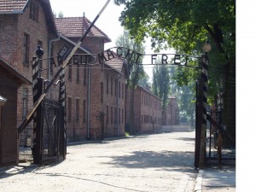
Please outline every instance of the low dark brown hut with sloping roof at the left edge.
M21 84L32 82L0 59L0 166L17 165L19 162L16 121Z

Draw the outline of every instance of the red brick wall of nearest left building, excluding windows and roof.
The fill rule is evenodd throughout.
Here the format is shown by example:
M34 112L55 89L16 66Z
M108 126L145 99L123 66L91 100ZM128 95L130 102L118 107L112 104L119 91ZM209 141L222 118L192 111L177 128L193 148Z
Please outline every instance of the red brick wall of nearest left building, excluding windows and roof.
M47 15L44 14L43 8L38 1L35 2L39 6L38 22L29 18L29 6L25 9L23 15L0 15L0 56L11 66L15 67L23 76L32 80L32 56L35 55L38 41L43 43L44 58L48 57L49 37L53 37L53 32L49 31L49 24L46 22ZM24 63L24 33L29 35L29 63ZM47 61L43 61L43 67L47 67ZM46 78L47 71L43 73ZM17 125L22 122L22 90L24 87L28 91L28 111L32 109L32 86L23 85L18 90L18 113ZM32 124L28 126L20 135L20 144L26 143L26 137L32 137Z

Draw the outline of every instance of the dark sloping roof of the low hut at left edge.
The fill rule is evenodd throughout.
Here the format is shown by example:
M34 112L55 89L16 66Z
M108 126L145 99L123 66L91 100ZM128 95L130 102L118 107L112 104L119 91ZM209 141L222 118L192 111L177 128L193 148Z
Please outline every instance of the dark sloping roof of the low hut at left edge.
M22 74L15 70L14 67L11 67L6 61L0 58L0 70L5 70L6 74L11 77L15 78L20 82L20 84L32 84L29 79L26 79Z

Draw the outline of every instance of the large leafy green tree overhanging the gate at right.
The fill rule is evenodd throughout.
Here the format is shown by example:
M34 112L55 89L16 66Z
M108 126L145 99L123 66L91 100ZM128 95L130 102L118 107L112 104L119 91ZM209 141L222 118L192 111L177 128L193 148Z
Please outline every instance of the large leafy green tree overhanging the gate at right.
M201 45L210 41L208 54L210 99L222 92L224 124L236 137L236 1L234 0L114 0L124 4L119 20L137 42L151 37L155 49L174 48L201 55ZM179 84L195 82L195 70L182 68ZM210 100L210 102L212 102Z

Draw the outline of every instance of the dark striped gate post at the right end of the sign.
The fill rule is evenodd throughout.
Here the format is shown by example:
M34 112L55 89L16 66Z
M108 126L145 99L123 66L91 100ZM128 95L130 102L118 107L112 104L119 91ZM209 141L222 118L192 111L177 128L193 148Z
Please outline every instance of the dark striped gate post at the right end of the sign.
M206 158L206 131L207 131L207 90L208 90L208 55L207 52L201 57L202 79L202 115L201 115L201 144L199 167L205 166Z

